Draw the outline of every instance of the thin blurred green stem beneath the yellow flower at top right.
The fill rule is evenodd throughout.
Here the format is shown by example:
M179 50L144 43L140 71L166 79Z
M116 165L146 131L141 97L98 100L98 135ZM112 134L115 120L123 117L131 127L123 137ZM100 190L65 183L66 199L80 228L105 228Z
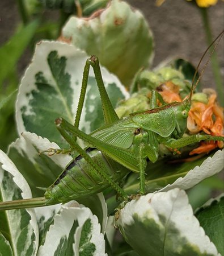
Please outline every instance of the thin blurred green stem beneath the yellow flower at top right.
M213 36L212 36L212 30L210 28L207 8L200 8L200 13L201 13L202 22L204 24L206 40L208 45L210 45L213 42ZM212 71L213 71L215 84L217 86L219 103L223 106L224 102L223 102L222 75L220 72L218 57L216 52L213 53L213 56L211 58L211 64L212 64Z

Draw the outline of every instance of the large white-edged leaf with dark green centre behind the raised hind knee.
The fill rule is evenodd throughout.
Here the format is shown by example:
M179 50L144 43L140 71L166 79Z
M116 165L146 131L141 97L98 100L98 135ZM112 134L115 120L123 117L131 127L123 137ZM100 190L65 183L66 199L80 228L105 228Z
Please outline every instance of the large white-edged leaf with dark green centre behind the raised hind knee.
M61 147L68 147L58 133L54 120L64 117L70 123L74 123L87 58L86 53L66 43L37 44L32 63L19 86L16 102L19 134L31 131L56 142ZM120 81L104 68L102 76L115 107L117 101L129 95ZM102 105L91 70L79 127L90 133L102 125Z

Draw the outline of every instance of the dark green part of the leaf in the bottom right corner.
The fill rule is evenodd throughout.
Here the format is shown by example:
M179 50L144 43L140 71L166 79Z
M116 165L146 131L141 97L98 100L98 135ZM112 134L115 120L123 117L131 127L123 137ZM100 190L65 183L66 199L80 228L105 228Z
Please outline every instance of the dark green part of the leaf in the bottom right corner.
M205 230L205 234L217 247L221 255L224 255L224 196L209 200L196 211L196 217Z

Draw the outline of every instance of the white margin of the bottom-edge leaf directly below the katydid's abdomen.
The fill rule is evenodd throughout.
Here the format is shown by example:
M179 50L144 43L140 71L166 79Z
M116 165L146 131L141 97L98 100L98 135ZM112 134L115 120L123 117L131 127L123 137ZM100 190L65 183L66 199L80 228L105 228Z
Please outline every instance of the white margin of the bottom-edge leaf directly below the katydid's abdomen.
M107 256L105 252L104 235L100 233L98 218L92 214L89 208L79 205L76 201L62 205L60 212L54 218L54 224L50 226L44 245L39 247L37 256L53 256L62 236L69 234L74 221L78 221L79 227L75 230L75 243L73 245L74 255L79 255L79 241L84 222L90 218L93 225L90 242L96 245L94 256Z

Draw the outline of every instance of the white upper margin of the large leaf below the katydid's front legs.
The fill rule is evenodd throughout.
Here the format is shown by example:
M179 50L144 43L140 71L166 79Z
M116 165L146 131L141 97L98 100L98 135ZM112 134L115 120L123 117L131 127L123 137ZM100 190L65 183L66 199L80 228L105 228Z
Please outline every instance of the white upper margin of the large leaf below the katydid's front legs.
M184 190L174 188L167 192L149 193L130 201L120 210L118 226L134 224L133 216L136 214L139 218L142 217L142 220L145 220L146 216L153 218L158 225L163 225L159 221L159 216L165 216L180 230L181 236L199 247L201 253L221 256L193 215L193 209Z

